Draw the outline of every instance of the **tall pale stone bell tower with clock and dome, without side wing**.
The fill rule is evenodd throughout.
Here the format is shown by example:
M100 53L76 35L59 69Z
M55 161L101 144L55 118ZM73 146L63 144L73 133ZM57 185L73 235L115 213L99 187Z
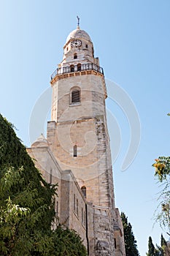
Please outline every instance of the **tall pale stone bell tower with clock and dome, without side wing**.
M92 40L79 24L66 39L63 60L50 83L53 99L47 142L61 169L72 170L87 202L93 206L93 217L87 223L89 255L125 255L115 242L120 227L115 209L104 71L94 57Z

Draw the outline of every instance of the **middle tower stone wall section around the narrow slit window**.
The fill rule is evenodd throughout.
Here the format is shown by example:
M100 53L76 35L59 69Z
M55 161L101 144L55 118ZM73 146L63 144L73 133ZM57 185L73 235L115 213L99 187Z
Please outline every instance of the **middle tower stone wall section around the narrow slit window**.
M87 200L98 206L114 204L112 166L107 162L107 138L102 119L85 118L74 124L48 122L47 140L61 169L72 169L87 189ZM77 145L77 157L73 146Z

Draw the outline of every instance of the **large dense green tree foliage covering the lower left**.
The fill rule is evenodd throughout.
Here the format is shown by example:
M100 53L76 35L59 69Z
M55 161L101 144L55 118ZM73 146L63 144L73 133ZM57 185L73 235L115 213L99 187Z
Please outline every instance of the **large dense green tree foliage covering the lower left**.
M0 255L87 255L77 233L51 229L56 189L0 115ZM63 244L66 252L60 252Z

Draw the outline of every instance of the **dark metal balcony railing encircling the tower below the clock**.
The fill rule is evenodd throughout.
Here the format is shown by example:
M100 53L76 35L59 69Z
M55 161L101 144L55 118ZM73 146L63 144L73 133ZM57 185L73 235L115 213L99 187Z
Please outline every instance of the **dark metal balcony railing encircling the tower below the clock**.
M55 72L53 72L53 74L51 75L51 80L53 80L53 78L55 78L56 75L80 72L84 70L96 70L97 72L104 75L104 69L102 67L99 67L98 65L93 63L87 63L87 64L71 65L69 67L59 67L58 69L55 69Z

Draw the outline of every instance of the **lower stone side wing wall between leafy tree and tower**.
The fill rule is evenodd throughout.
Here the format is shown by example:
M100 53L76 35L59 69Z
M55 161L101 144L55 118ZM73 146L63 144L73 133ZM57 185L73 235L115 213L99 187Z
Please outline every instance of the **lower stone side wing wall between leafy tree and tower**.
M48 146L39 143L27 148L28 154L34 159L36 167L48 183L58 183L58 197L55 197L56 216L62 225L74 229L80 234L83 244L87 247L86 238L86 201L71 170L61 170ZM74 208L75 195L75 208ZM78 205L77 205L78 203ZM56 227L56 224L53 224Z

